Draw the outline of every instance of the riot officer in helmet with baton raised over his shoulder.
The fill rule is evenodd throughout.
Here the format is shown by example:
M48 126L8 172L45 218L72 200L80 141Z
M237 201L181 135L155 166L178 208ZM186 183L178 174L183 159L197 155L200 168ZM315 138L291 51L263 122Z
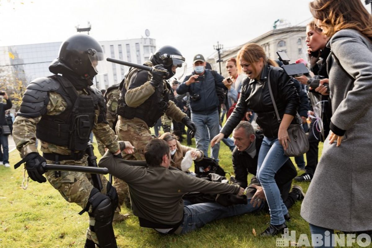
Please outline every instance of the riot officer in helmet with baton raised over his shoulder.
M163 46L145 61L154 66L152 73L132 68L121 84L118 100L116 134L123 141L135 146L134 154L124 155L127 160L145 160L144 148L152 139L150 127L165 113L184 123L193 133L194 123L172 101L169 100L171 77L180 78L186 71L185 58L173 46Z

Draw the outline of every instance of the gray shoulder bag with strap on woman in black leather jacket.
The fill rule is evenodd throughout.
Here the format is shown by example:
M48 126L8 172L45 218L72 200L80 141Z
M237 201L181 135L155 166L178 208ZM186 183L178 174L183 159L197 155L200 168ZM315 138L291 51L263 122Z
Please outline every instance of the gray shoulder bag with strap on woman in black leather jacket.
M267 76L267 84L269 84L270 97L274 105L276 118L278 119L278 122L280 123L282 122L282 120L279 117L279 112L278 112L278 109L276 108L273 91L271 90L270 72L269 72L269 75ZM295 118L297 118L297 116ZM285 155L287 155L288 157L297 157L297 156L304 154L305 152L309 150L309 141L301 125L291 124L289 125L287 131L288 131L288 136L289 136L289 142L288 142L288 148L284 150Z

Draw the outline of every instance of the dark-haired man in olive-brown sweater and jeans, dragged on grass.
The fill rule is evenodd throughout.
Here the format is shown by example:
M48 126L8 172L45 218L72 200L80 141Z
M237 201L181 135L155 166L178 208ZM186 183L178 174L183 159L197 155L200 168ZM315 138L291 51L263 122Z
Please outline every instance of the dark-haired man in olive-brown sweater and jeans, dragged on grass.
M121 149L124 142L119 142ZM236 204L224 207L219 203L199 203L185 206L182 196L188 192L238 196L244 189L226 183L210 182L187 175L169 167L169 145L162 139L153 139L145 148L146 164L129 165L129 161L116 158L110 152L101 158L99 167L106 167L110 174L124 180L129 187L132 211L138 216L140 226L154 228L165 234L181 234L200 228L212 220L250 213L264 204ZM139 165L139 161L134 161ZM132 163L132 161L130 162Z

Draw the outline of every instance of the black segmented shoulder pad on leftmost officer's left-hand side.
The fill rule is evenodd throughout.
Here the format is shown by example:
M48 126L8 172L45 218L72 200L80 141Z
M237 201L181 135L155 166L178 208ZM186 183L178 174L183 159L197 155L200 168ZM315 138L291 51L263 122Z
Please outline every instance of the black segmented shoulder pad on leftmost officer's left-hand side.
M34 118L47 113L48 92L55 91L59 87L57 80L48 77L40 77L31 81L23 94L17 115Z

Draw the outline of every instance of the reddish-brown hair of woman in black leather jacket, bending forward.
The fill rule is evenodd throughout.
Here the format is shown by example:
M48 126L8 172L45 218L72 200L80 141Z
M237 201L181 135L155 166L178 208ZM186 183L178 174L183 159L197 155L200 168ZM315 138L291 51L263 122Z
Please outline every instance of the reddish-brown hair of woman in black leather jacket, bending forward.
M275 61L266 57L265 51L263 51L263 48L259 44L248 43L239 50L236 56L239 73L242 72L240 59L244 59L244 61L248 62L249 64L253 64L254 62L259 61L260 58L263 58L264 63L278 67L278 64ZM256 70L256 68L253 67L253 70ZM254 71L254 73L257 72Z

